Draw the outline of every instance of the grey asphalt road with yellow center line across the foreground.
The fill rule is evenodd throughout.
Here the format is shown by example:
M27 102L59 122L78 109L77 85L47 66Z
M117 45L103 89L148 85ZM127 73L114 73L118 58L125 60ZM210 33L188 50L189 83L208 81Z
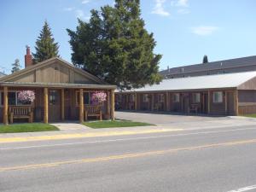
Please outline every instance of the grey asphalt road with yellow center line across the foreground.
M253 125L6 143L0 146L0 191L253 191L255 152Z

